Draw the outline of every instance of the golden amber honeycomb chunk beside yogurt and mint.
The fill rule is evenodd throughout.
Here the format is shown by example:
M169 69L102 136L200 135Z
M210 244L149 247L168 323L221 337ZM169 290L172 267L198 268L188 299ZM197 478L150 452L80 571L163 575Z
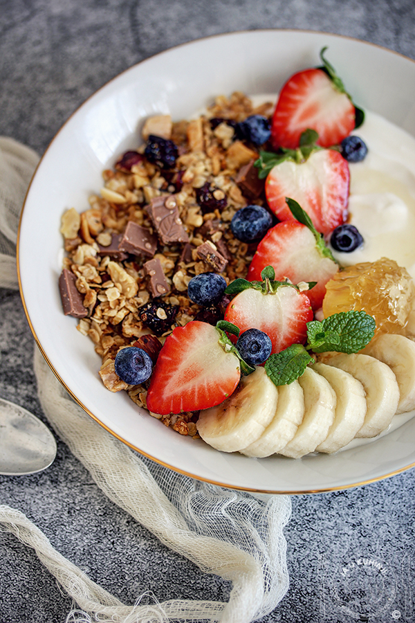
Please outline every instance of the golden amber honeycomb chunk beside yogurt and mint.
M326 283L324 316L362 309L376 320L376 335L398 333L405 327L415 303L414 282L394 260L380 258L339 271Z

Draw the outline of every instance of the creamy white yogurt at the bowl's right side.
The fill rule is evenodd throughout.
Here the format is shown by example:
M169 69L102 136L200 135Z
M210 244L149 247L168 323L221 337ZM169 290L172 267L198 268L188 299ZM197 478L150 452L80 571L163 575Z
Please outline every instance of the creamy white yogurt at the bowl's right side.
M367 111L353 134L368 149L364 161L349 164L350 222L365 243L333 255L344 265L390 258L415 278L415 138Z

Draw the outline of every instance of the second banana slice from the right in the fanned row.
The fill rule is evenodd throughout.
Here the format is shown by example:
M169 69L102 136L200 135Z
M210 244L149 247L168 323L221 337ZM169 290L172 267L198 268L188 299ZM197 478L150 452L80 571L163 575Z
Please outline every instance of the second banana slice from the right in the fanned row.
M366 392L367 411L356 437L376 437L391 423L399 402L399 388L389 365L367 354L336 354L324 363L349 372L362 383Z

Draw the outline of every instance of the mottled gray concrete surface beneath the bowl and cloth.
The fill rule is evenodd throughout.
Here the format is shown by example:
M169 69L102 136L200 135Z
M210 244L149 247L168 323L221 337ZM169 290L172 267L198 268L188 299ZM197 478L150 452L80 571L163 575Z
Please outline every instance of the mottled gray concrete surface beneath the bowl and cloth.
M140 60L192 39L250 28L340 33L415 58L413 0L0 0L0 135L42 154L98 87ZM0 291L0 395L42 413L33 339L19 295ZM286 528L288 595L264 622L415 621L415 473L348 491L293 497ZM34 476L0 476L0 503L20 509L92 579L132 604L227 599L201 573L113 505L58 441ZM351 597L352 595L352 597ZM63 623L71 599L35 553L0 534L0 622ZM349 597L348 597L349 596ZM349 610L344 608L349 598Z

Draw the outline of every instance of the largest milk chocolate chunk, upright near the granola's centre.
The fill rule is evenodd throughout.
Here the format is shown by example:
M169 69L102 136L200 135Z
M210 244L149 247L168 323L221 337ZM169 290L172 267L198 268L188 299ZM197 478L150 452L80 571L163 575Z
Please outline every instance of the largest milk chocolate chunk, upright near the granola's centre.
M178 215L176 197L155 197L147 206L147 212L163 244L189 242L181 217Z

